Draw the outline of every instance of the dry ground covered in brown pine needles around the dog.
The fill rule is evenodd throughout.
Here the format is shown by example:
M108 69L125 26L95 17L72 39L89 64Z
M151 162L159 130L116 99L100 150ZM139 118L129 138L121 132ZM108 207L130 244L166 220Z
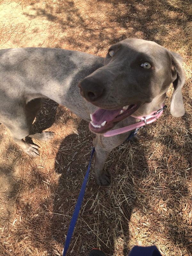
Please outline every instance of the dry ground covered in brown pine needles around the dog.
M153 40L184 58L186 114L161 118L110 154L110 187L93 168L68 255L93 247L125 256L155 244L163 256L192 255L192 6L188 0L1 0L0 48L59 47L105 56L127 37ZM44 100L34 128L56 133L34 142L31 159L0 124L0 255L61 255L94 135L86 122Z

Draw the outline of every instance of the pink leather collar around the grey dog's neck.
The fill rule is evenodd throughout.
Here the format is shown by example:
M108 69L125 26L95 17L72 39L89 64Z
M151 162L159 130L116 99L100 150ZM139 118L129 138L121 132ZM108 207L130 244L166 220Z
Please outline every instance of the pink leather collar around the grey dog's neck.
M162 105L162 107L156 111L151 113L149 116L132 116L134 118L140 119L142 120L141 122L138 122L136 124L131 124L128 126L125 126L123 128L119 128L116 130L112 130L112 131L108 131L106 133L103 134L104 137L111 137L111 136L115 136L124 132L129 132L132 131L136 128L142 127L144 125L150 124L155 122L163 113L163 110L166 108L167 106L165 106L164 104Z

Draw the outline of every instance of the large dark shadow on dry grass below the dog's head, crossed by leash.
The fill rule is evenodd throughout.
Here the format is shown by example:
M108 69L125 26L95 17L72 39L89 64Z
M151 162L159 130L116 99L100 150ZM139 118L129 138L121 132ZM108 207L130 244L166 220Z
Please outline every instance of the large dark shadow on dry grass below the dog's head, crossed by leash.
M79 135L68 135L61 142L55 161L55 170L60 178L54 197L52 236L59 244L65 242L94 138L85 121L79 123L77 130ZM133 142L125 142L119 146L121 150L110 154L105 166L111 174L112 183L109 187L99 187L96 184L92 161L84 201L69 247L72 255L88 255L95 247L103 249L108 255L113 255L114 250L127 255L129 221L132 210L137 205L134 182L139 182L148 174L142 150L137 149L135 155L132 144ZM122 151L127 151L126 159L121 158Z

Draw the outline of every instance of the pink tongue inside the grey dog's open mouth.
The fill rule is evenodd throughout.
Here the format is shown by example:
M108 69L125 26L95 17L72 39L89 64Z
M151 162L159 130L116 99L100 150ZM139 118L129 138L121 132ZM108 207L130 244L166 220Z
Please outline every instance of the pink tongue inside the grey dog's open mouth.
M115 110L106 110L103 108L98 108L92 114L92 122L94 124L102 124L104 121L112 121L116 116L119 115L121 108Z

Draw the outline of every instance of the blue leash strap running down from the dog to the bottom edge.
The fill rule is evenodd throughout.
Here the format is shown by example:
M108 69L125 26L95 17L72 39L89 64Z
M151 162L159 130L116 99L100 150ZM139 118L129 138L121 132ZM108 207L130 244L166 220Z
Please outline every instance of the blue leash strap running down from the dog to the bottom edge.
M89 177L89 171L90 171L90 168L91 168L91 160L92 160L94 152L95 152L95 148L92 149L91 159L89 161L89 166L87 168L87 172L85 174L84 181L83 181L83 184L81 186L81 191L79 193L79 197L78 197L77 202L76 202L76 206L75 206L75 209L74 209L74 212L73 212L73 216L72 216L71 222L69 224L69 229L68 229L68 232L67 232L67 237L66 237L66 241L65 241L64 250L63 250L63 256L66 255L67 250L69 248L69 245L70 245L70 242L71 242L71 237L73 235L73 231L74 231L74 228L75 228L75 225L76 225L77 217L78 217L79 211L81 209L81 204L83 202L83 198L84 198L84 194L85 194L85 188L86 188L87 180L88 180L88 177Z

